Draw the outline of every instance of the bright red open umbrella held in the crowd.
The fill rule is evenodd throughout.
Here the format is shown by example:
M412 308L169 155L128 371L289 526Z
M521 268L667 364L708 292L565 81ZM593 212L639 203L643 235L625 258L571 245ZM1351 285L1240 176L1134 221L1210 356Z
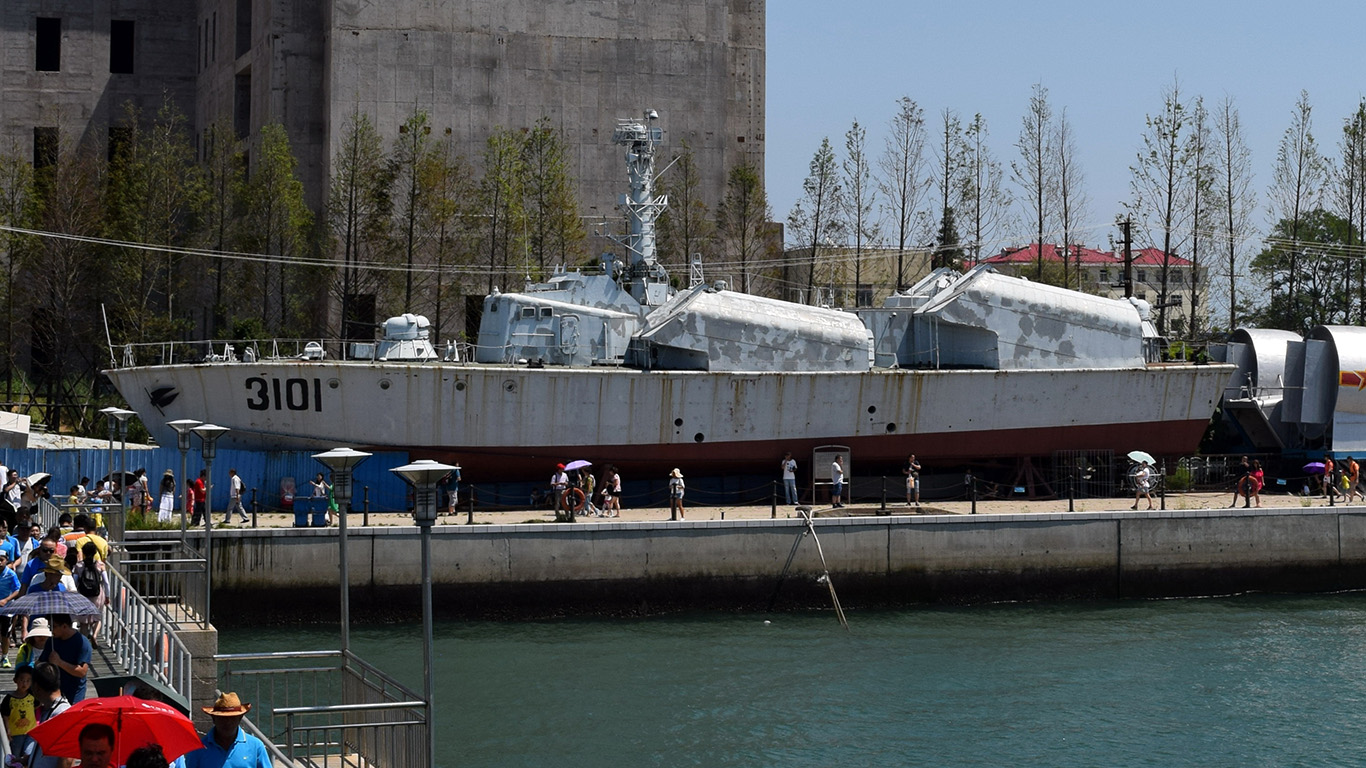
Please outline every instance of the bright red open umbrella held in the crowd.
M44 754L81 757L81 728L104 723L113 728L111 765L123 765L139 748L160 743L167 760L204 746L194 723L168 704L134 696L86 698L29 731Z

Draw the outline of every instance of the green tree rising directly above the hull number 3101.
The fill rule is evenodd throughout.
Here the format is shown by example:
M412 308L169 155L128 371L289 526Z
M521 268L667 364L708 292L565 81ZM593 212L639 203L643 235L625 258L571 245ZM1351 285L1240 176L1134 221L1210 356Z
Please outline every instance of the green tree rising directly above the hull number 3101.
M313 213L303 202L303 183L295 174L298 160L290 149L284 126L264 126L260 142L251 176L240 187L245 201L242 245L245 250L265 257L258 275L261 324L277 333L302 332L294 320L305 309L305 302L313 298L320 275L294 262L307 256ZM273 291L272 272L276 279ZM277 310L273 324L270 309Z

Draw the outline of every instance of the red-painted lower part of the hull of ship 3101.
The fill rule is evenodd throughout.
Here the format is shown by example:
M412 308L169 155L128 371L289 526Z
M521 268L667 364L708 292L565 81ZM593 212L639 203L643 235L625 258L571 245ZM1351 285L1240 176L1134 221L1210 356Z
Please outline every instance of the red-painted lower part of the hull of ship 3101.
M1056 451L1142 450L1156 456L1188 455L1199 445L1208 421L1161 424L1101 424L992 432L941 432L822 440L753 440L744 443L649 444L649 445L542 445L518 448L411 447L413 458L433 458L462 467L466 481L526 481L549 473L559 462L587 459L594 467L613 465L628 478L664 477L672 467L684 476L734 476L776 473L777 462L791 451L806 465L820 447L848 448L850 474L866 470L900 471L910 454L926 466L1050 458ZM385 450L378 447L377 450ZM388 447L392 450L392 447ZM862 467L862 469L861 469Z

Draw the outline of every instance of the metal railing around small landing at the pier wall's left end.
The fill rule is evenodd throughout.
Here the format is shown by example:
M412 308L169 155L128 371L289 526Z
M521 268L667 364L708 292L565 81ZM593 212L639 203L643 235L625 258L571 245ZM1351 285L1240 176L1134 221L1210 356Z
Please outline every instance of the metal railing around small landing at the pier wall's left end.
M179 608L176 619L183 623L209 625L209 563L202 552L179 538L127 541L112 549L117 570L146 601Z

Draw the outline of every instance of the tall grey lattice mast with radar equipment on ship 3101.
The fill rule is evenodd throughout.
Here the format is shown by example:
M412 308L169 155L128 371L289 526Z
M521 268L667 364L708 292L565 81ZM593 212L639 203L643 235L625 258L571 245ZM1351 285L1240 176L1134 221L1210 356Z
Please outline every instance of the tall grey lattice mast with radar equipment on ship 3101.
M668 197L654 197L654 150L664 141L658 119L658 112L646 109L643 119L620 119L612 131L612 143L627 148L626 172L631 184L630 193L617 200L626 209L627 235L612 239L627 251L622 284L642 306L658 306L671 292L669 273L654 253L654 221L668 205Z

